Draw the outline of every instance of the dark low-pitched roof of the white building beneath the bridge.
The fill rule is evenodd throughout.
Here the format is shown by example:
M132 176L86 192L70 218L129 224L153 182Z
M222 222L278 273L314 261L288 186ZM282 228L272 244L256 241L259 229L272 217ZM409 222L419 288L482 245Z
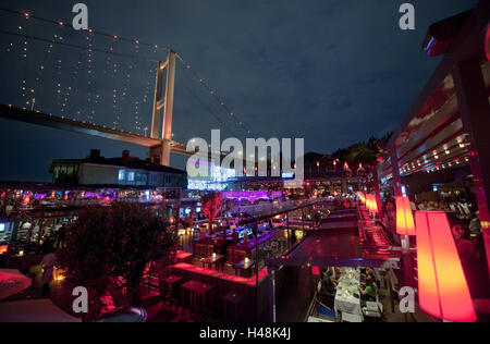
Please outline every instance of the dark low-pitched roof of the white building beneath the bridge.
M124 161L125 160L125 161ZM135 170L145 170L145 171L155 171L155 172L166 172L166 173L175 173L175 174L187 174L185 171L174 169L171 167L152 164L146 160L139 160L135 158L123 159L123 158L109 158L106 159L103 157L94 157L94 158L85 158L85 159L61 159L53 160L52 164L60 163L93 163L93 164L102 164L102 165L112 165L112 167L125 167L127 169Z

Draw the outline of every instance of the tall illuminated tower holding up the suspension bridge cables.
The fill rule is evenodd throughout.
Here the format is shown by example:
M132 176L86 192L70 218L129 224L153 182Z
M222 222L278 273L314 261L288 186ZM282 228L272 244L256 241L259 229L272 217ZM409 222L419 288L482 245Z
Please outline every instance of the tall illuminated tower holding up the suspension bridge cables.
M175 51L170 50L167 59L158 63L151 119L151 138L161 139L161 145L150 148L150 159L155 163L167 167L170 165L170 150L172 145L175 62ZM166 83L164 97L163 82Z

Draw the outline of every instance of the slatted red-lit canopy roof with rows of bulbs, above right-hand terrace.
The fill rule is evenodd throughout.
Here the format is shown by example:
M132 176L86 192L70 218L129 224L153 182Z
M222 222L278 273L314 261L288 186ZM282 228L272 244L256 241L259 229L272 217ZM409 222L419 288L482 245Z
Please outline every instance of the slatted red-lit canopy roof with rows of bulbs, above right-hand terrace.
M437 23L429 32L450 46L441 48L449 50L388 144L396 152L402 176L468 163L469 137L463 127L453 71L460 61L481 54L489 9L488 1L480 1L470 13L450 19L453 26L444 34L446 36L438 27L446 26L448 21ZM483 62L481 69L486 86L490 88L490 63ZM389 179L391 173L391 159L387 158L379 165L379 176Z

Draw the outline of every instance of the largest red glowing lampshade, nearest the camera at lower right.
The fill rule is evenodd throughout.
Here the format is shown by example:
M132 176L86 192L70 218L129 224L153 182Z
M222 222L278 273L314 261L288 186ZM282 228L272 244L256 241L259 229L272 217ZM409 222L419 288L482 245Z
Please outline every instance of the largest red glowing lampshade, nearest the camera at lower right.
M477 320L468 285L443 211L417 211L417 263L420 307L437 318Z

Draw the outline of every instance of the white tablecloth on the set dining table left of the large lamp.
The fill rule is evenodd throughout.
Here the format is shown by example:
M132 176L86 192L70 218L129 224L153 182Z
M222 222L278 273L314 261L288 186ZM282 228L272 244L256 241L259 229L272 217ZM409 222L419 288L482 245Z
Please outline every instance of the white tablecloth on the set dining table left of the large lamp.
M360 298L357 298L353 295L353 293L359 295L358 290L359 285L360 285L359 270L344 268L339 279L339 285L336 287L335 294L334 307L338 314L348 312L352 315L358 315L363 317Z

